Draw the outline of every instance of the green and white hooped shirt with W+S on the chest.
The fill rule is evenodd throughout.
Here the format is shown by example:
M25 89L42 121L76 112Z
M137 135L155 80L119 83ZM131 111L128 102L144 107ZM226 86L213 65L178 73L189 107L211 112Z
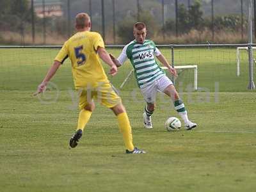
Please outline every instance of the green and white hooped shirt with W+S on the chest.
M122 53L117 58L122 65L127 58L134 67L134 74L140 88L148 86L157 79L165 76L164 71L159 67L154 54L159 56L161 52L157 49L152 40L145 40L138 44L135 40L125 45Z

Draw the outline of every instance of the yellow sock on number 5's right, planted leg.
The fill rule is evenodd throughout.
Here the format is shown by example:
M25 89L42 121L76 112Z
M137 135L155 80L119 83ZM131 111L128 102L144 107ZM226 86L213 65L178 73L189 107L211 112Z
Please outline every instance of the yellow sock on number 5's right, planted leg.
M123 134L126 149L130 151L134 150L134 146L132 144L132 128L127 113L118 114L117 121L120 131Z

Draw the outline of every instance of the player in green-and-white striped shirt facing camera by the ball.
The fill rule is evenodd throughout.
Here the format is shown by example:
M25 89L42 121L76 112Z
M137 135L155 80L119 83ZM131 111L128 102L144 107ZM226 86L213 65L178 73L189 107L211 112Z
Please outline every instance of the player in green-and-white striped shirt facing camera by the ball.
M173 74L173 76L177 76L175 68L169 65L152 40L145 39L147 29L143 22L134 24L133 34L135 40L125 45L117 59L113 55L110 56L117 67L123 65L127 58L129 58L132 67L134 67L138 86L147 102L145 112L143 113L144 127L147 129L153 128L151 115L154 113L156 106L156 93L163 92L173 100L174 108L184 121L185 129L195 128L196 124L189 120L184 103L180 99L175 86L173 86L173 82L165 75L163 69L159 67L154 56L168 68L168 72Z

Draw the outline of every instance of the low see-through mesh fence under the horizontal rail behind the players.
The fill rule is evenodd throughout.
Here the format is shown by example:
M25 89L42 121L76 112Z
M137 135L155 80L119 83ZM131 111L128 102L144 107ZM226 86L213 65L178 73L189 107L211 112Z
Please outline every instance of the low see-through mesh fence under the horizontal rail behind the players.
M175 86L180 92L248 92L249 78L248 46L250 44L196 44L196 45L157 45L173 67L178 67L179 76ZM255 44L253 44L255 47ZM124 45L108 45L114 56L122 52ZM237 54L237 47L243 48ZM0 46L0 89L34 90L60 51L61 46L26 45ZM247 49L246 49L247 48ZM256 53L253 54L256 58ZM189 66L196 65L196 74ZM108 65L102 63L108 72ZM255 67L255 60L253 62ZM70 60L61 66L52 83L60 90L73 88ZM137 88L136 79L129 61L118 68L115 77L109 80L120 90ZM130 73L131 72L131 73ZM166 74L173 79L168 72ZM196 76L195 76L196 75ZM253 76L256 76L255 70ZM126 77L129 77L127 81ZM196 78L196 81L195 81ZM125 82L124 85L122 85ZM253 83L254 84L254 83ZM255 91L254 91L255 92Z

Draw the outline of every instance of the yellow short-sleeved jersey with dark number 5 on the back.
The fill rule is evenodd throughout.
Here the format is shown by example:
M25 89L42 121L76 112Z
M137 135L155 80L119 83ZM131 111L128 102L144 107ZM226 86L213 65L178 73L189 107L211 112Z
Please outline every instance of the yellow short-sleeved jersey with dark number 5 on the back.
M70 58L76 89L109 82L96 52L98 47L105 47L99 33L81 31L71 36L56 56L61 63Z

